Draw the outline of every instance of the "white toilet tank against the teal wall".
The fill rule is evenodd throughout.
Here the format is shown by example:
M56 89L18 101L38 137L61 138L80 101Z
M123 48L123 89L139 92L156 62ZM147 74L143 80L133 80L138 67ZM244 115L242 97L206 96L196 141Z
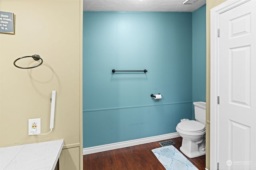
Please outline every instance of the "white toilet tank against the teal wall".
M206 123L206 102L193 102L195 108L195 118L205 125Z

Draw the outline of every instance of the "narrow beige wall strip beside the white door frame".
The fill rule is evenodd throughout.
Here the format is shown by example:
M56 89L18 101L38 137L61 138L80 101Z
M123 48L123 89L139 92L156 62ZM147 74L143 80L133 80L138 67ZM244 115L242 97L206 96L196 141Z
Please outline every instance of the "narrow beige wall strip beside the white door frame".
M206 168L210 170L210 10L226 0L206 0Z

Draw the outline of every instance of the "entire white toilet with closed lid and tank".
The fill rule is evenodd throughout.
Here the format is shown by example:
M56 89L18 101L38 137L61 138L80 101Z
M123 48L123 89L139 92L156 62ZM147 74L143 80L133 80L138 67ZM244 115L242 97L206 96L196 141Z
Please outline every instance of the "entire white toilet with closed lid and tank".
M180 150L189 158L205 154L206 103L194 102L193 104L196 121L182 119L176 126L176 131L182 137Z

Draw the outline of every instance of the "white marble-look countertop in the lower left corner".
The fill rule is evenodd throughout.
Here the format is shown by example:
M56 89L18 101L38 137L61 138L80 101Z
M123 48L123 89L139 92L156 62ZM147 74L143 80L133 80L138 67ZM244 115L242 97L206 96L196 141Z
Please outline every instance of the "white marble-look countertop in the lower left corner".
M0 148L0 170L54 170L63 139Z

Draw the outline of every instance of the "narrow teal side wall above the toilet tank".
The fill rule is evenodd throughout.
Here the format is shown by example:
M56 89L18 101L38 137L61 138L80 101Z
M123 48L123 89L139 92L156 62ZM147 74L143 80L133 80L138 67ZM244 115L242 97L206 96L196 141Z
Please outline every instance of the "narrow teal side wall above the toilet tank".
M192 98L206 101L206 5L192 12Z

